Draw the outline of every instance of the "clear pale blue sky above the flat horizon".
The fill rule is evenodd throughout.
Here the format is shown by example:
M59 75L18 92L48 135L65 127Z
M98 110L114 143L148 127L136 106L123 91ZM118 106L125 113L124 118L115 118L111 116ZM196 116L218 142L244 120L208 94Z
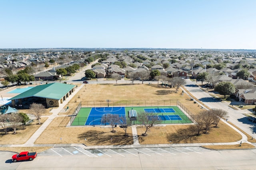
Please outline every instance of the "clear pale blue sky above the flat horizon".
M0 0L0 48L256 49L256 0Z

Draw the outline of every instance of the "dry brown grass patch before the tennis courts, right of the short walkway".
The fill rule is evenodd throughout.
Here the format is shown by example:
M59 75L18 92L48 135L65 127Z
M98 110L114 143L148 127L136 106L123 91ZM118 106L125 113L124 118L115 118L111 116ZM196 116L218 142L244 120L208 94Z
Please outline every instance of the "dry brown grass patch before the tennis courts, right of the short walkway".
M208 134L196 135L192 128L194 125L166 125L165 127L154 127L149 129L147 136L139 136L140 144L167 144L170 143L220 143L235 142L242 139L239 133L221 122L217 128L212 127ZM223 130L225 129L225 130ZM145 128L138 127L137 133L141 135ZM230 135L232 134L232 135Z

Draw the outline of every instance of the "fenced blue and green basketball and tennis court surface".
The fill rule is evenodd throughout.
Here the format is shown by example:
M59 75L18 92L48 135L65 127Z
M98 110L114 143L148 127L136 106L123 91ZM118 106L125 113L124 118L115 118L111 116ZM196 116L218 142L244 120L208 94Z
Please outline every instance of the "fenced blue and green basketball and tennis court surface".
M123 119L129 119L128 111L136 110L137 114L140 112L156 113L156 119L161 120L162 123L193 123L177 106L151 106L151 107L81 107L76 115L72 126L76 125L108 125L106 123L107 114L115 114ZM148 116L148 119L153 117ZM133 124L140 124L136 119L132 121Z

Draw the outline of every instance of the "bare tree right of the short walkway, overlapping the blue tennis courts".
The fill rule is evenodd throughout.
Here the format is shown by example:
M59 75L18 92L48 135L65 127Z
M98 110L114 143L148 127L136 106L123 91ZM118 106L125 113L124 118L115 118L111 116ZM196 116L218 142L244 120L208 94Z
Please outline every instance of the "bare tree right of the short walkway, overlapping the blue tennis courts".
M138 116L137 116L137 120L144 125L145 127L145 132L142 134L142 136L145 136L148 129L150 129L151 127L153 127L153 125L159 124L161 123L161 121L159 120L157 113L152 113L152 112L139 112Z

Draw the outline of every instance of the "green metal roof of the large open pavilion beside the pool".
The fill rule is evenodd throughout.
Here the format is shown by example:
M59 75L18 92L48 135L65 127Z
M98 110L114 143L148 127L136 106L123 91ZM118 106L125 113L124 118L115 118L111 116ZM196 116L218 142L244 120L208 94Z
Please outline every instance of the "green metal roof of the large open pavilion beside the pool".
M50 83L40 86L35 86L34 88L27 90L9 100L16 100L21 98L38 97L38 98L48 98L60 100L65 96L75 85L64 84L64 83Z

